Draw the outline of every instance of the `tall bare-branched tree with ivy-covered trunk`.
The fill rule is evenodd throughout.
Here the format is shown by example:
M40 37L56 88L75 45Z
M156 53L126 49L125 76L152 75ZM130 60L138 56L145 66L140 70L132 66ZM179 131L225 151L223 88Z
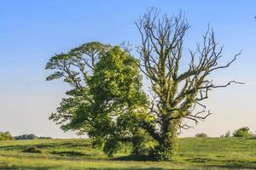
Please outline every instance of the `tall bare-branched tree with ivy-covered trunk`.
M219 65L223 47L218 46L211 29L203 36L203 43L195 51L189 50L188 70L180 73L183 58L183 40L189 29L182 13L176 16L160 16L152 8L137 21L142 44L138 47L141 71L151 82L152 98L148 114L151 122L142 126L158 142L156 150L163 160L172 158L177 149L179 128L189 128L184 120L203 121L211 113L201 102L208 98L213 88L225 88L236 81L215 85L209 79L213 71L229 67L238 53L226 65ZM199 111L200 106L202 109Z

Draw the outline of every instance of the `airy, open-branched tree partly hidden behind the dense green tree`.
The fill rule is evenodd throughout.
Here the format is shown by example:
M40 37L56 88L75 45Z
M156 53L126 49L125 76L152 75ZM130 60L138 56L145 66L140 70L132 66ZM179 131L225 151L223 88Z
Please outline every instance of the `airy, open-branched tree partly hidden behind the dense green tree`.
M77 130L82 134L93 128L91 121L95 115L90 111L93 100L89 94L88 81L96 62L109 48L109 45L100 42L89 42L73 48L67 54L55 54L49 59L45 68L54 72L46 80L62 78L71 87L56 113L49 116L49 119L61 124L64 131ZM82 117L79 119L79 116Z

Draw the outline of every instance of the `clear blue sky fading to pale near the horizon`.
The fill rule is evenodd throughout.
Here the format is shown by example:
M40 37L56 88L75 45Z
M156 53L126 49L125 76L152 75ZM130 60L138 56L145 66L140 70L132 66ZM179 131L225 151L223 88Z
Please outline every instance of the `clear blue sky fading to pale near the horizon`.
M0 131L75 137L48 120L68 87L61 81L45 82L49 74L44 70L47 60L90 41L129 41L136 46L140 38L134 21L148 7L167 14L185 12L191 28L184 50L195 48L208 23L217 41L224 44L223 62L243 50L234 65L212 77L216 82L239 80L246 85L212 91L207 100L212 116L183 132L183 136L202 132L219 136L241 126L256 131L253 0L0 0Z

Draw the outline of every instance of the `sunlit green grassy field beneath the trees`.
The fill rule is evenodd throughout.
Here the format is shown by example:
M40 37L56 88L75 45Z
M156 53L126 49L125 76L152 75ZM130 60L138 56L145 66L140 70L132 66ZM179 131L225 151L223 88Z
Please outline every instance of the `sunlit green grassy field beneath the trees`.
M24 153L36 146L42 153ZM256 139L179 139L174 161L120 161L129 148L108 159L88 139L0 141L0 169L256 169ZM122 159L121 159L122 158Z

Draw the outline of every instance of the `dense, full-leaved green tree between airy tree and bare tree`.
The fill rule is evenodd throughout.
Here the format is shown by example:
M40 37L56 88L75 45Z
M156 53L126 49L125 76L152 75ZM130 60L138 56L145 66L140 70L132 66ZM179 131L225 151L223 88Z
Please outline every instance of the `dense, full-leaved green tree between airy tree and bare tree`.
M148 119L145 111L148 104L137 62L121 48L114 47L96 64L88 83L95 101L92 108L96 115L102 116L96 122L100 127L88 134L97 144L105 141L103 150L108 156L113 156L122 142L133 144L132 153L143 150L146 134L139 122Z

